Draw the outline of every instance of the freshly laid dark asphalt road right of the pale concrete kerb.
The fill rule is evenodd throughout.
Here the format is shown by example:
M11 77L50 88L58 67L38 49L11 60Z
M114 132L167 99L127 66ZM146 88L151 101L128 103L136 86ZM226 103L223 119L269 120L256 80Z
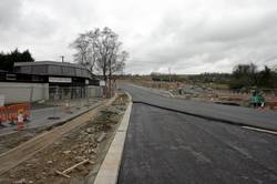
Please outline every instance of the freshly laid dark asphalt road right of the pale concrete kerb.
M135 103L132 109L119 184L277 183L277 135L172 110L181 104L171 105L168 111L165 110L168 106L164 101L172 101L171 99L133 85L121 88L131 92ZM141 103L141 100L147 99L148 104ZM157 99L160 102L156 101ZM188 102L176 101L172 102L184 103L184 106ZM152 102L155 102L154 106ZM193 109L196 110L192 111L195 112L203 112L203 106L206 105L193 103ZM211 106L212 110L208 111L216 112L218 109L223 111L218 114L226 114L227 119L232 116L229 115L232 111L225 111L228 106ZM237 111L233 116L244 115L244 112L250 112L250 110ZM252 119L247 120L248 115L240 121L250 122ZM270 124L271 121L267 120L274 119L275 115L275 113L265 112L259 120ZM273 121L273 123L276 122Z

